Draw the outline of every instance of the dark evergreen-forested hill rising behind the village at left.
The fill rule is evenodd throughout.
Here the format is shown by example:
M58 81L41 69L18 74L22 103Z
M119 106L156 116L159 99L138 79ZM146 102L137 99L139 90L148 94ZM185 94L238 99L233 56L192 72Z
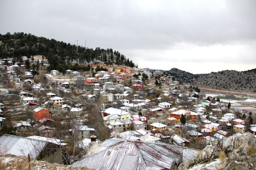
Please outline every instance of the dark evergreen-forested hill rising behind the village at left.
M78 52L76 52L76 45L63 41L50 40L23 32L0 34L0 58L10 57L19 62L21 56L34 55L45 56L50 66L55 67L72 62L86 64L91 61L99 61L107 65L135 66L132 60L118 51L113 51L112 48L106 50L99 47L85 49L85 47L78 46Z

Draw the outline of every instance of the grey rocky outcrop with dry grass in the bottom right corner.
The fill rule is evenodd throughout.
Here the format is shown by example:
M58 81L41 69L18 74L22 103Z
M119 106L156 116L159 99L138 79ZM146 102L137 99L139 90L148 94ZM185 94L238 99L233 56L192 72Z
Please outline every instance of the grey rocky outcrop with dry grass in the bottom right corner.
M234 167L239 170L254 170L256 167L256 140L252 133L230 136L225 140L222 147L227 155L225 170L233 170ZM211 162L218 157L219 150L217 146L207 145L198 157L180 164L178 170L188 170L196 164Z

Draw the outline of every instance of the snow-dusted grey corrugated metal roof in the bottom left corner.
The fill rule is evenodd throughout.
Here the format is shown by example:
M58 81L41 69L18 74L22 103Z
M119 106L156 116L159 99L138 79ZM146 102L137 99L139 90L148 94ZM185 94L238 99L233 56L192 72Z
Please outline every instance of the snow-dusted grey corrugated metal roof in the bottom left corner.
M46 141L7 134L4 134L0 138L0 152L6 152L16 156L28 156L30 154L33 159L36 159L46 145Z

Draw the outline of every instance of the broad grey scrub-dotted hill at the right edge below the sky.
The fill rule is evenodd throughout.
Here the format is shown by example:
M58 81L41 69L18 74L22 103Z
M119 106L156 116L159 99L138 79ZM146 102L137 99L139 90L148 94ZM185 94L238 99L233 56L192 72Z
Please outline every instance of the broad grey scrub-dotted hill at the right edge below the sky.
M198 77L193 83L199 87L219 90L256 92L256 69L248 71L225 70Z

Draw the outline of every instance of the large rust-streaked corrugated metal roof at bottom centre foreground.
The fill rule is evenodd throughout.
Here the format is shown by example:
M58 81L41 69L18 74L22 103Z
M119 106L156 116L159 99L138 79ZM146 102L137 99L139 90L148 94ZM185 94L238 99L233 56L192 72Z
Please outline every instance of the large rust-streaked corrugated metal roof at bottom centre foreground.
M117 138L104 141L101 146L108 148L85 156L73 165L100 170L146 170L146 167L164 170L178 162L183 150L168 144Z

